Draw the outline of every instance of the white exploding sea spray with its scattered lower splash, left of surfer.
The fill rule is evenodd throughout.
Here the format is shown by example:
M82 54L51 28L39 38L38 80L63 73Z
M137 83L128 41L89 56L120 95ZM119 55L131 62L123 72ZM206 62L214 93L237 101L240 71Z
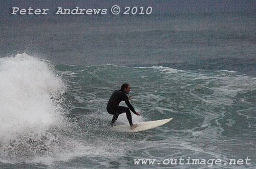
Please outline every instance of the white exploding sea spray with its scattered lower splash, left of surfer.
M73 130L60 105L66 86L48 62L26 53L1 58L0 79L2 162L52 162L82 147L62 134Z

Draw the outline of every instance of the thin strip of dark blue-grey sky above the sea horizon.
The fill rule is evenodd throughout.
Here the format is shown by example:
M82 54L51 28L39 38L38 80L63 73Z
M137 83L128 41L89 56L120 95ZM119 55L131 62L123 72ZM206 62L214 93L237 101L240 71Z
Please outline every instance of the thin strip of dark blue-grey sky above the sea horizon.
M33 8L33 9L49 9L49 14L56 12L57 7L73 9L79 8L106 8L110 10L113 5L118 5L121 8L126 6L137 6L137 7L149 7L153 8L153 14L159 13L170 13L170 14L182 14L182 13L216 13L216 12L256 12L256 1L255 0L226 0L226 1L203 1L203 0L27 0L27 1L1 1L0 3L0 17L13 17L12 7L22 8Z

